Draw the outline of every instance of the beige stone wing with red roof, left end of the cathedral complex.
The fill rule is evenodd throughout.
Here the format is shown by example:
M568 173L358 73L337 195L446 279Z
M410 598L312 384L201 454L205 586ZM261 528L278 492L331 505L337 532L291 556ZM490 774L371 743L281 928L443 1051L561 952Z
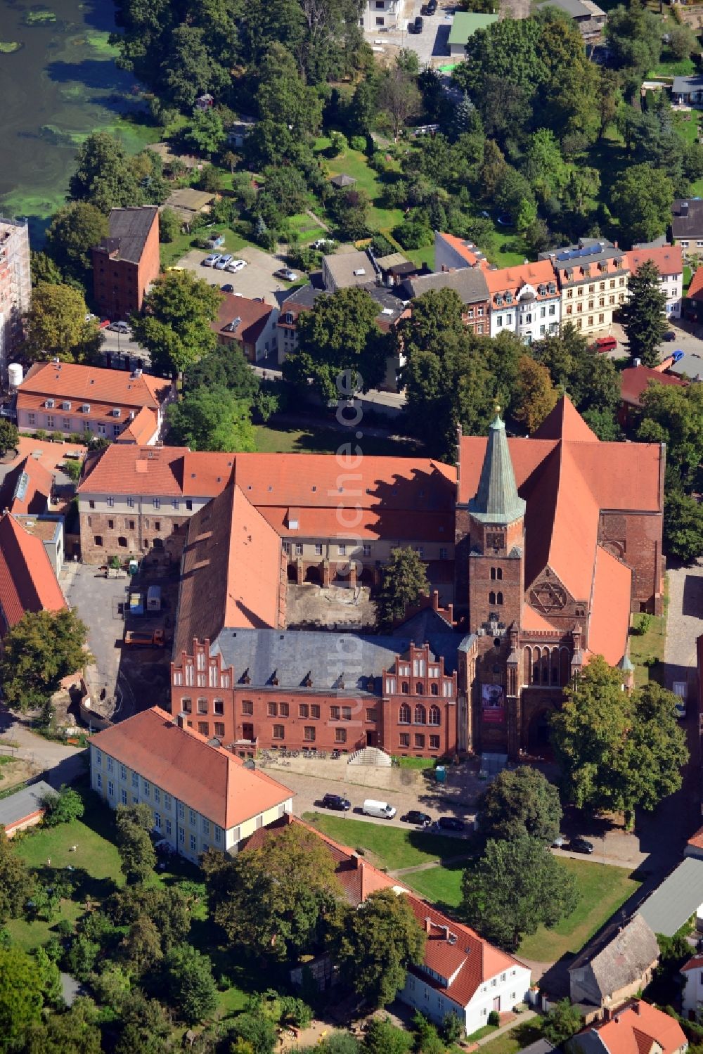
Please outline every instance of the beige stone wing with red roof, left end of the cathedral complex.
M228 485L234 454L115 443L89 454L78 486L81 559L150 550L178 559L182 525Z

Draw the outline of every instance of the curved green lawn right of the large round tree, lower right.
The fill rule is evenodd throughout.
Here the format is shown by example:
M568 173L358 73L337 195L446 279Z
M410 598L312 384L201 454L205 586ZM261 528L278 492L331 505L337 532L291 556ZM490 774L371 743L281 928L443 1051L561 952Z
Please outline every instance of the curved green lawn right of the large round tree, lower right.
M560 864L575 876L579 903L553 930L540 926L525 938L519 954L527 959L553 962L567 952L580 951L641 884L624 867L566 858Z

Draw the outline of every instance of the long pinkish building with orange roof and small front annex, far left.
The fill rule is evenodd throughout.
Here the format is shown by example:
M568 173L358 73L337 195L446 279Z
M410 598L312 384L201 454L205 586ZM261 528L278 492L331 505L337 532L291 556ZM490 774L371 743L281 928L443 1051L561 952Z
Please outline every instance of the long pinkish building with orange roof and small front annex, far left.
M139 415L140 437L150 446L161 436L164 412L176 391L171 380L103 370L74 363L35 363L17 389L17 425L21 432L91 432L118 440Z

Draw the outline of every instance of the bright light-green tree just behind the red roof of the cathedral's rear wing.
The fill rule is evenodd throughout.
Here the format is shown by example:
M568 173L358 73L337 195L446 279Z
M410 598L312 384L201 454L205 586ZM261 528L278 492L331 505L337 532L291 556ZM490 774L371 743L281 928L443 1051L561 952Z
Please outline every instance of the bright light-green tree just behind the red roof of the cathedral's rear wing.
M189 392L168 418L172 441L191 450L256 450L249 404L219 385Z

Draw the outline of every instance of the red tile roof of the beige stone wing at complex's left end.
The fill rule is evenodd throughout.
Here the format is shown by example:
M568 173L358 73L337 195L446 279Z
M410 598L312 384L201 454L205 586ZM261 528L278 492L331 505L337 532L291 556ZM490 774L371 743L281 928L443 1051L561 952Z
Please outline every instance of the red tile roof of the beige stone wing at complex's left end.
M232 477L235 454L114 443L89 455L80 493L214 497Z

